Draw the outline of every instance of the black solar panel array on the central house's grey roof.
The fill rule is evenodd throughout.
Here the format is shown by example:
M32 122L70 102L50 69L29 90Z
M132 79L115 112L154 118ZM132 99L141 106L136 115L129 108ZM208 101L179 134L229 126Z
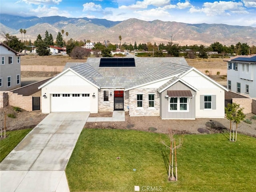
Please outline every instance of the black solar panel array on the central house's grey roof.
M135 67L134 58L100 58L99 67Z

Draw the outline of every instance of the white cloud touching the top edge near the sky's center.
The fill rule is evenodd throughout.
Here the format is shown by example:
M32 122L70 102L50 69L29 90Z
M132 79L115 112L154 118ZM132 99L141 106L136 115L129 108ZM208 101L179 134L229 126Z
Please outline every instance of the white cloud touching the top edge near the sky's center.
M170 4L170 0L143 0L143 1L137 1L135 4L129 5L129 6L120 6L120 9L131 9L131 10L137 10L137 9L145 9L150 5L161 7L166 6Z

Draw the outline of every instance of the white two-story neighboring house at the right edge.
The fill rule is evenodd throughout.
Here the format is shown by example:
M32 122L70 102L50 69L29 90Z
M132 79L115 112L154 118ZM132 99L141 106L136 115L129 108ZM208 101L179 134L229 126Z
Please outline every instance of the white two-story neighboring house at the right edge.
M228 60L227 88L256 98L256 54Z

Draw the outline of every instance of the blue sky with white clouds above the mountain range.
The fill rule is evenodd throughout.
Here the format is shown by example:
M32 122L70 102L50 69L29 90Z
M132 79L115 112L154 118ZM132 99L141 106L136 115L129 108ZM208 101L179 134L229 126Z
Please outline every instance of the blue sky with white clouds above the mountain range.
M256 0L0 0L0 12L123 21L137 18L188 24L256 27Z

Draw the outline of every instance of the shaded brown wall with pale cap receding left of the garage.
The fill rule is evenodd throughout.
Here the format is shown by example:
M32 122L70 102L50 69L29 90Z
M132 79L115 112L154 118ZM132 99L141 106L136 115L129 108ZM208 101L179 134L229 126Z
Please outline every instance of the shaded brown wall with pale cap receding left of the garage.
M40 91L38 89L38 87L40 85L44 84L45 82L47 82L48 80L50 80L51 78L48 78L48 79L45 79L45 80L42 80L42 81L38 81L38 82L32 83L32 84L29 84L27 86L24 86L24 87L21 87L21 88L18 88L18 89L14 89L11 92L17 93L17 94L23 95L23 96L30 96L30 95Z

